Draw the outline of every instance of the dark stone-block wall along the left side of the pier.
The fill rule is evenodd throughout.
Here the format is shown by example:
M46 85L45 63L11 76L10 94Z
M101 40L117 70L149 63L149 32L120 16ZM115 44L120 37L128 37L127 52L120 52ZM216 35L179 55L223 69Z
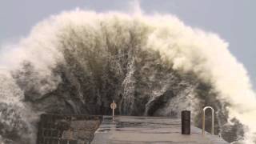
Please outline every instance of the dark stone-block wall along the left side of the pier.
M102 116L42 114L37 144L87 144L102 122Z

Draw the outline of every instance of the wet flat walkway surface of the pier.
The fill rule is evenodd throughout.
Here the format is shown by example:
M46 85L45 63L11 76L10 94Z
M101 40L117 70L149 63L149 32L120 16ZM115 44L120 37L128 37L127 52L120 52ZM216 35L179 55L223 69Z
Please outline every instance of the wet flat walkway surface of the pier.
M92 144L227 144L217 135L202 135L191 126L191 134L181 134L177 118L103 116Z

